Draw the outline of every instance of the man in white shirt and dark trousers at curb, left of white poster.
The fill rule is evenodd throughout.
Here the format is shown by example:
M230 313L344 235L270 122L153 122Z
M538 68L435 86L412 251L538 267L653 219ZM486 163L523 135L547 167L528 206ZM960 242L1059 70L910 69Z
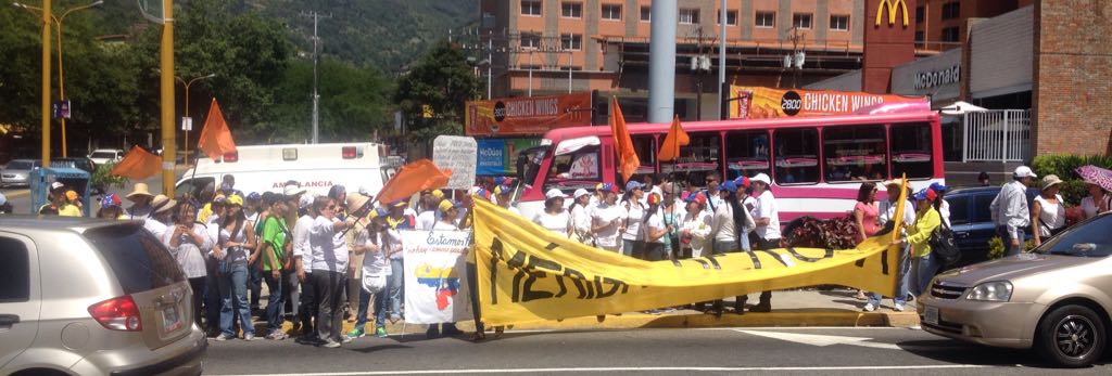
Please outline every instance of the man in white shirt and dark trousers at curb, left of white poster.
M339 236L347 222L336 219L337 204L321 196L312 202L319 213L309 228L314 284L317 286L317 335L324 347L336 348L350 341L342 335L342 286L347 278L347 240Z

